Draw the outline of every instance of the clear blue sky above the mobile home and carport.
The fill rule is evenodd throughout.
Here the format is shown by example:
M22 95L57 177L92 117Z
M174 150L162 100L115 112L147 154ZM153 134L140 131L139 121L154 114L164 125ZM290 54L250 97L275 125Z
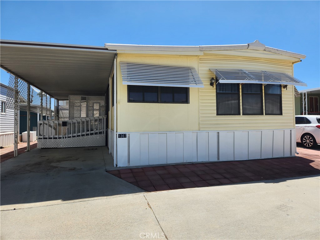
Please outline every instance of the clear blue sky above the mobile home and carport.
M294 76L319 87L320 1L0 1L1 39L220 45L261 43L307 55ZM1 70L1 82L8 74Z

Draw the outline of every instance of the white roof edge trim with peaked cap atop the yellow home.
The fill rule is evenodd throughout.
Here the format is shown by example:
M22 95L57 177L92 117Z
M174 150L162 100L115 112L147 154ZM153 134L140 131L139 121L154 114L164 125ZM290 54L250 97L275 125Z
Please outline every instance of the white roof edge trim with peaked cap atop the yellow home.
M277 48L268 47L258 40L248 44L230 44L230 45L199 45L199 46L172 46L172 45L139 45L139 44L112 44L106 43L105 47L110 50L128 50L128 51L219 51L219 50L260 50L277 53L289 57L305 59L306 55L289 52Z

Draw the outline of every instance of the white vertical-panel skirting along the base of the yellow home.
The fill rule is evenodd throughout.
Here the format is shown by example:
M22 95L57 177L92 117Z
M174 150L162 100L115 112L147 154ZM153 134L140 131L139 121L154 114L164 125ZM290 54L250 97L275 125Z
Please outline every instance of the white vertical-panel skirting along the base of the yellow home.
M295 129L123 133L118 167L295 156Z

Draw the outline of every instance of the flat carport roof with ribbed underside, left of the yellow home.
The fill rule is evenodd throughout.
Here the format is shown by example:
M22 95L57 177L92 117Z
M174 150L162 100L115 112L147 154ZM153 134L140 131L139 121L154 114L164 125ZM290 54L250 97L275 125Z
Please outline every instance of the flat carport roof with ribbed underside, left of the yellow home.
M116 51L105 46L1 40L1 68L58 100L103 95Z

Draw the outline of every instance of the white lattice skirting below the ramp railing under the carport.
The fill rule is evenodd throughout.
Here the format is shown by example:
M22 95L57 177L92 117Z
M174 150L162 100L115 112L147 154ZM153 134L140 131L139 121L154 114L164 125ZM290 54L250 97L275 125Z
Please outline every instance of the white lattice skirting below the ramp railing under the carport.
M105 146L106 134L63 139L38 139L38 148L75 148Z

